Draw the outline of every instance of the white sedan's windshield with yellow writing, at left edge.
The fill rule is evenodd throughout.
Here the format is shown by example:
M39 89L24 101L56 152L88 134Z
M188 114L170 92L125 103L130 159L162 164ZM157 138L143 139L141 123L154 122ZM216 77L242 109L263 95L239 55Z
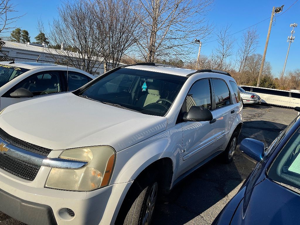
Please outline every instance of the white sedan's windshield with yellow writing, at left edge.
M29 71L29 69L0 64L0 87L27 71Z

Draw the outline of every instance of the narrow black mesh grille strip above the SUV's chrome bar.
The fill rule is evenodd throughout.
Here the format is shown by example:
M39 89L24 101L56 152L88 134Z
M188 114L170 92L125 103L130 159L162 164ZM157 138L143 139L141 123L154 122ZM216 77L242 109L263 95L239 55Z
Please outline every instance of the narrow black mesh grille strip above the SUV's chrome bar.
M37 146L37 145L31 144L31 143L28 143L26 141L20 140L18 138L15 138L15 137L7 134L1 128L0 128L0 137L3 140L9 142L10 144L12 144L14 146L17 146L21 149L25 149L29 152L38 153L38 154L44 155L44 156L47 156L51 152L51 149L47 149L47 148L44 148L44 147L41 147L41 146Z

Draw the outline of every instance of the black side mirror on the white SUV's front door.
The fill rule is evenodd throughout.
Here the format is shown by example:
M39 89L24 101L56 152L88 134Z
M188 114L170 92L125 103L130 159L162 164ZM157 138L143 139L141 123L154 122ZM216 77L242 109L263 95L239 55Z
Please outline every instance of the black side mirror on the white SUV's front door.
M201 121L211 121L212 114L208 109L201 106L192 106L188 113L184 113L183 120L185 122L201 122Z

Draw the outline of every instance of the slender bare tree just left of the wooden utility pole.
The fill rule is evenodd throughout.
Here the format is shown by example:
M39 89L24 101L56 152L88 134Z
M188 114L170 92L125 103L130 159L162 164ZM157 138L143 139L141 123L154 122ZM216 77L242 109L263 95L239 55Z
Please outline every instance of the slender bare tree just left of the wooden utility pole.
M258 34L256 29L248 29L242 37L241 44L239 44L237 52L237 70L238 77L237 83L241 81L241 76L243 75L246 67L246 61L248 56L255 52L258 46Z

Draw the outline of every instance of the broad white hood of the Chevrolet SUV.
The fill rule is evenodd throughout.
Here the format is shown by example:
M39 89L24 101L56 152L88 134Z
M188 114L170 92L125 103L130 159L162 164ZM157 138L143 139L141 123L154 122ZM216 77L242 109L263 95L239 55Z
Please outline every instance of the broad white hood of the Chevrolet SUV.
M110 145L120 151L166 130L167 119L78 97L52 95L13 104L0 115L0 128L49 149Z

